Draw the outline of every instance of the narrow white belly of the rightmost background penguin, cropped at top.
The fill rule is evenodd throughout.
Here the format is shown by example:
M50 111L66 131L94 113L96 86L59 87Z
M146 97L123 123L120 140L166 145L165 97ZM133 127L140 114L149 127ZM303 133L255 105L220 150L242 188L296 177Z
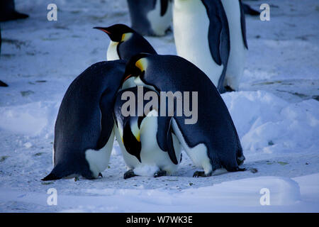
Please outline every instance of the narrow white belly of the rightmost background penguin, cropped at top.
M242 38L239 1L222 0L230 30L230 55L225 74L225 85L238 90L240 77L245 68L247 48Z

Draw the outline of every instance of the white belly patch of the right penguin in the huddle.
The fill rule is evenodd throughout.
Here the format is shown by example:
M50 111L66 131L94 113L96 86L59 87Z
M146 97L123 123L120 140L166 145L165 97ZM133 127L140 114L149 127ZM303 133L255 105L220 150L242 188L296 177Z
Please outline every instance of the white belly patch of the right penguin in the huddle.
M206 145L203 143L200 143L196 145L194 148L189 148L189 145L187 145L183 134L181 133L179 126L177 125L177 122L173 118L172 120L172 126L174 133L176 133L177 138L179 139L179 142L181 143L181 146L186 151L187 155L191 158L194 165L198 168L202 168L205 172L205 174L212 172L212 166L211 166L211 160L209 159L207 155L207 148Z

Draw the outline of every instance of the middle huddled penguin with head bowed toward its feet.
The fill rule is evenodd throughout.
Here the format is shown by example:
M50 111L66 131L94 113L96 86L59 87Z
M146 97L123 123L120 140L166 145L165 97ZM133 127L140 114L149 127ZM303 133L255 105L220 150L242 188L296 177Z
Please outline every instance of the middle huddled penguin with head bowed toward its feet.
M128 96L128 92L131 97L135 97L134 100L129 100L132 105L130 111L135 110L133 114L123 114L127 102L123 100L123 96ZM172 130L172 117L159 116L156 101L154 106L147 107L150 103L145 101L144 96L148 100L152 98L151 104L155 99L158 104L159 96L154 90L139 86L118 92L114 105L116 139L128 167L124 179L172 175L181 161L181 145ZM143 111L140 116L138 108Z

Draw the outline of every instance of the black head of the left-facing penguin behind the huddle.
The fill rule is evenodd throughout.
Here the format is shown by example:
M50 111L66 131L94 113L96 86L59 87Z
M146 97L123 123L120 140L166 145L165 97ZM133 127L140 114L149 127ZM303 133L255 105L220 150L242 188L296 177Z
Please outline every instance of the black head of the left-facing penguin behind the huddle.
M135 33L135 31L132 28L125 26L125 24L121 24L121 23L117 23L113 26L109 26L106 28L102 28L102 27L94 27L94 28L105 32L106 34L108 34L108 36L111 38L113 42L118 42L118 43L127 40L132 33Z

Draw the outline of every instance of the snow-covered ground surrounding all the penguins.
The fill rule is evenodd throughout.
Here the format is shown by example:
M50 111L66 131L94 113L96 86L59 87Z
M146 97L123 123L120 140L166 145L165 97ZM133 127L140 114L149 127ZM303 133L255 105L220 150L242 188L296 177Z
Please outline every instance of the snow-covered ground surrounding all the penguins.
M259 171L193 178L186 154L176 175L123 179L114 145L96 180L41 182L52 168L53 126L70 82L106 60L107 35L92 29L129 24L125 0L16 1L24 21L1 23L1 212L309 212L319 211L319 4L317 0L246 1L271 6L271 21L247 16L249 56L240 92L223 94L242 141L245 167ZM161 54L176 54L172 33L148 38ZM57 189L57 206L47 189ZM262 206L261 189L270 206Z

